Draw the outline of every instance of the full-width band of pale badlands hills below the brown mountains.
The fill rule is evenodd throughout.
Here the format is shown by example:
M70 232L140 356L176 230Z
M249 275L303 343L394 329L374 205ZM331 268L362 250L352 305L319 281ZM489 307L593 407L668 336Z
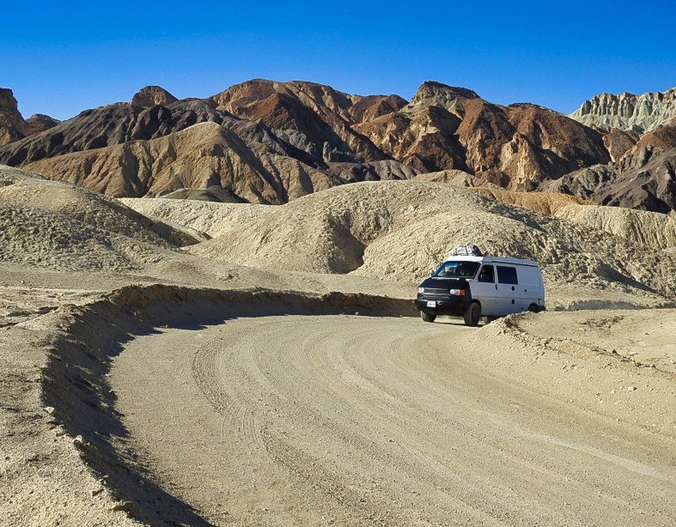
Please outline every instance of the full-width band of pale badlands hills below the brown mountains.
M125 200L146 217L63 182L14 168L0 175L1 259L29 268L151 275L165 269L169 276L176 268L236 265L277 276L331 273L416 283L453 247L473 242L486 254L538 261L552 307L676 299L675 256L658 250L673 247L672 220L664 215L629 218L550 198L550 209L568 202L551 210L575 219L567 221L476 190L393 181L334 187L284 206Z

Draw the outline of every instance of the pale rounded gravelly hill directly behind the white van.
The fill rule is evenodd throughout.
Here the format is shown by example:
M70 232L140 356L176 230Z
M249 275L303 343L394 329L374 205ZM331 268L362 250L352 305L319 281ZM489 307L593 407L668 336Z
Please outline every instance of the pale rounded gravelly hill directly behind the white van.
M185 250L246 266L415 282L465 242L485 254L538 261L552 299L626 295L649 304L676 297L675 261L668 254L434 182L337 187Z

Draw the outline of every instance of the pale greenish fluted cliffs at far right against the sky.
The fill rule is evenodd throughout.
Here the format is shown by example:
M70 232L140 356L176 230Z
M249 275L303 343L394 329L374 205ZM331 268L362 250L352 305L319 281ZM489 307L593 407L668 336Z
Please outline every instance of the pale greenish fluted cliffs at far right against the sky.
M676 116L676 88L634 95L602 93L584 101L570 117L587 126L642 134Z

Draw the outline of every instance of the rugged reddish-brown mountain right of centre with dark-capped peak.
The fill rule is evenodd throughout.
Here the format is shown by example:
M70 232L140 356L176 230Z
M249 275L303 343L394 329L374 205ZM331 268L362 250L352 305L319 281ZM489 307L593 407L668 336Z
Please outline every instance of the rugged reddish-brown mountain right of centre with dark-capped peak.
M497 106L439 82L425 82L401 110L353 128L420 171L459 169L511 190L610 161L599 132L560 113Z

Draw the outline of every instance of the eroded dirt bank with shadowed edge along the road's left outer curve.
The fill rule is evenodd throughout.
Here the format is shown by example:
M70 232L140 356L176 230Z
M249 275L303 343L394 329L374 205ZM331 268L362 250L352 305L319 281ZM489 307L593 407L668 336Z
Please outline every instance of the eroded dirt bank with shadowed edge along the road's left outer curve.
M123 443L128 435L107 376L111 358L134 335L238 314L412 312L409 302L337 292L151 285L99 297L33 294L42 298L21 299L17 306L30 308L17 307L0 328L0 496L8 525L207 524L147 478L137 452L113 449L112 438Z

